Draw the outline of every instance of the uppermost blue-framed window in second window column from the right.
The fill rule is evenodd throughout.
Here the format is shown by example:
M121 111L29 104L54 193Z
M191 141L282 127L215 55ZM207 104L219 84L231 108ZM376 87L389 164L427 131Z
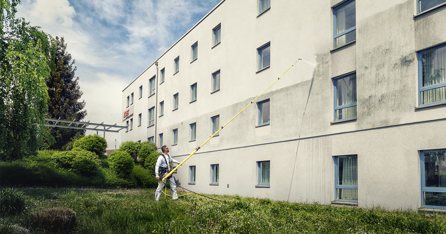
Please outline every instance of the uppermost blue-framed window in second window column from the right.
M335 39L334 47L356 40L356 6L354 0L345 1L333 8Z

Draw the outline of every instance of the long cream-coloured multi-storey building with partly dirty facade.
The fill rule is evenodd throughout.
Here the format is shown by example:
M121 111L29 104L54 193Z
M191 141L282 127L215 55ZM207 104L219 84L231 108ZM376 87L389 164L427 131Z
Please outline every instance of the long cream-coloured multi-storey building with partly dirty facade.
M208 194L446 209L446 0L222 0L122 91ZM443 137L442 137L443 136Z

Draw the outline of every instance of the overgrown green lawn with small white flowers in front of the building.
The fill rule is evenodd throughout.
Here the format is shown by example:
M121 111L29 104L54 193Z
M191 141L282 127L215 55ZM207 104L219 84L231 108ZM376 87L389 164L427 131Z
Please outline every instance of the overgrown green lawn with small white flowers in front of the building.
M27 209L2 217L4 224L30 228L30 214L48 207L68 207L76 212L71 233L426 233L446 234L446 216L381 209L333 207L269 199L217 196L214 201L197 195L180 200L154 201L154 189L20 189ZM170 194L167 191L167 194ZM32 230L44 233L43 230Z

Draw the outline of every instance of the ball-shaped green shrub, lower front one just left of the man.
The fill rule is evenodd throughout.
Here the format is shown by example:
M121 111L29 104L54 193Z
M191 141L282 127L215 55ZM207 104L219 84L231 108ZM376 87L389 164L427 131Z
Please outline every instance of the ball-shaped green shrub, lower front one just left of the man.
M109 156L110 168L118 177L127 178L132 172L132 157L125 151L115 151Z

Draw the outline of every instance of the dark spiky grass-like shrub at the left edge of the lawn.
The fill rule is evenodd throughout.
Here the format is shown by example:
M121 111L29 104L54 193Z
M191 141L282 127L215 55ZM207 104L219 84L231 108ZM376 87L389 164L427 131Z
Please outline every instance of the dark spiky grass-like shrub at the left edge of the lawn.
M25 196L14 188L0 190L0 211L4 214L18 214L25 209Z

